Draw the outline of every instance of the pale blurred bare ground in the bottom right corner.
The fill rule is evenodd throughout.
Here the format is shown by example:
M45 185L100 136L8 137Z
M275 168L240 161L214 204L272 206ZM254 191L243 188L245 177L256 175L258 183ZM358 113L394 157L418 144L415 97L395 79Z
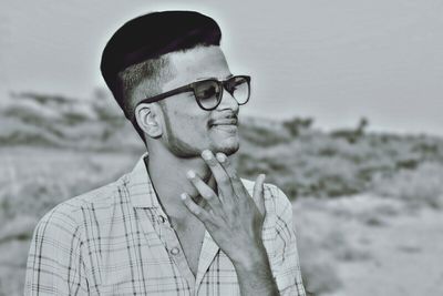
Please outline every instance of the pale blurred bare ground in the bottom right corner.
M391 218L361 239L371 242L372 261L340 264L344 286L334 295L443 295L443 213Z

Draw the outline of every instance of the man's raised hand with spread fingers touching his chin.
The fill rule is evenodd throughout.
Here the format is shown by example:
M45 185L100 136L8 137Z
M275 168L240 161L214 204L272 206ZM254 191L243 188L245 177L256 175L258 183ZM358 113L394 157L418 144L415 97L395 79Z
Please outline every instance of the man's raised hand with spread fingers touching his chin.
M266 257L261 241L261 228L265 218L264 181L260 174L254 186L253 198L227 156L204 151L202 157L209 166L218 186L217 195L193 171L187 174L190 183L206 200L206 210L189 197L182 194L186 207L199 218L217 245L230 258L234 265L246 268Z

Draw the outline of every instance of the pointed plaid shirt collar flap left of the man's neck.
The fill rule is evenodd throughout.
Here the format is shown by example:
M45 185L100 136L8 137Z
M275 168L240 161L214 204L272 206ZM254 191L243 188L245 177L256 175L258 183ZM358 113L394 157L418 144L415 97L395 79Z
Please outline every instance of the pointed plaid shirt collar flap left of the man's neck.
M126 177L126 187L133 207L159 207L157 194L145 163L147 157L146 152Z

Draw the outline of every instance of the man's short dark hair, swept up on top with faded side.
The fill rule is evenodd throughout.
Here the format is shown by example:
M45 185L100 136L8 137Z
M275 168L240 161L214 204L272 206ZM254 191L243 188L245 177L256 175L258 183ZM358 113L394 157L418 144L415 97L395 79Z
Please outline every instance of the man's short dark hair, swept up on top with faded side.
M168 63L162 55L198 45L219 45L220 39L217 22L195 11L144 14L126 22L112 35L103 50L102 75L125 116L133 121L135 103L128 102L128 86L161 75Z

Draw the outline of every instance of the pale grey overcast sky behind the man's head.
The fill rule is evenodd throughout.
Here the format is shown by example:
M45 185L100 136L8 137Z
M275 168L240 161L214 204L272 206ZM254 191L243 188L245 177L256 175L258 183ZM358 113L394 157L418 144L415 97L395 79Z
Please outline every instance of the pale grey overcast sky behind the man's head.
M443 135L443 1L12 1L0 7L0 94L90 98L104 88L101 51L126 20L198 10L223 30L233 73L254 79L241 113L312 116Z

